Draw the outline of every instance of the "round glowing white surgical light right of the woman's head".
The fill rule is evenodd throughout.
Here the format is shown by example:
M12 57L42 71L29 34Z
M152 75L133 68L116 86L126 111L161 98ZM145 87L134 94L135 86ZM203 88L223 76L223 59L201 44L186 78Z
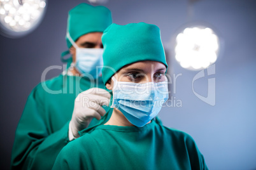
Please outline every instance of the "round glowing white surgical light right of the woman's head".
M205 69L216 62L218 36L208 27L187 27L176 36L175 58L189 70Z

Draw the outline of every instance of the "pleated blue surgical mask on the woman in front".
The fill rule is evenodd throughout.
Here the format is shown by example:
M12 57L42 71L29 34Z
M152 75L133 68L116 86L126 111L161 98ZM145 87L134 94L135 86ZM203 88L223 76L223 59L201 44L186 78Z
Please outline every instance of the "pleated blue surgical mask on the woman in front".
M142 127L159 114L162 104L168 99L167 81L164 82L121 82L112 77L113 103L131 124Z

